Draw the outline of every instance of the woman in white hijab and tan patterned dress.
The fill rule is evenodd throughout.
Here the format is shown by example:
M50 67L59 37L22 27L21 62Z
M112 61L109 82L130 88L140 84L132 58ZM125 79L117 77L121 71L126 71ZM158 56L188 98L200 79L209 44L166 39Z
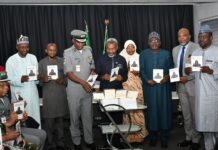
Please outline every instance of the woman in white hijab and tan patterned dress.
M142 81L139 75L139 71L130 71L130 59L139 60L139 54L136 52L136 44L132 40L127 40L124 44L124 49L120 55L126 59L128 64L128 79L123 83L123 88L126 90L138 91L137 103L144 104L142 93ZM131 121L134 125L138 125L142 130L139 132L130 134L128 141L131 143L140 143L144 141L144 138L148 135L145 128L144 113L142 110L132 111L130 113ZM123 116L123 123L128 124L129 119L127 115Z

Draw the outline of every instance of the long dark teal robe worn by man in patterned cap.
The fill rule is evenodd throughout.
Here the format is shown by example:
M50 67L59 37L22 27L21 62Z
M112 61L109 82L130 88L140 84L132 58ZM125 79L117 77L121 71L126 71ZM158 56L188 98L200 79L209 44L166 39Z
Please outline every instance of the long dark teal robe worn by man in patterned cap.
M167 75L172 68L170 53L159 49L153 53L146 49L140 54L140 72L143 82L143 95L147 104L147 124L150 131L168 130L172 126L172 100L170 83L157 83L149 85L148 80L153 79L153 69L163 69Z

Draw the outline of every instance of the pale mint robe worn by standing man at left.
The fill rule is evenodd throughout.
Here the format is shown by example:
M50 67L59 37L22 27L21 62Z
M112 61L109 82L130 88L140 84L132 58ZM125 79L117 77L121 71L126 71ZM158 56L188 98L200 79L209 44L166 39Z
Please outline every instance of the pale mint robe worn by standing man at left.
M27 75L27 67L36 66L38 62L34 55L27 54L26 57L20 57L18 53L8 58L6 62L6 71L10 80L12 102L16 100L15 94L20 96L27 102L26 112L40 123L39 95L36 84L37 81L28 81L21 83L21 77Z

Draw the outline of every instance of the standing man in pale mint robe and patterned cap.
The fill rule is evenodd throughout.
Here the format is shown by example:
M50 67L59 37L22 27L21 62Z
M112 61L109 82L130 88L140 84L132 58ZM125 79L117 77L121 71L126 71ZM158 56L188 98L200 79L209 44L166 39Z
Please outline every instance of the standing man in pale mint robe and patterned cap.
M38 70L38 62L36 56L29 52L29 38L21 35L17 39L18 52L9 57L6 62L6 71L10 80L12 102L16 101L16 94L27 102L26 111L29 116L33 117L39 124L39 94L36 84L38 81L30 81L27 73L28 67L33 67Z

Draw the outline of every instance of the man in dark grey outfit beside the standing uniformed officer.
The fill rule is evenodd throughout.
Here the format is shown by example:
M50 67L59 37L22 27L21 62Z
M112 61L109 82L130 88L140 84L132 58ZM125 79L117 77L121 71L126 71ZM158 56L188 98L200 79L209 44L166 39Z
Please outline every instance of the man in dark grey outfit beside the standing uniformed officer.
M64 116L68 113L66 77L63 59L57 57L57 45L49 43L45 50L47 56L39 61L40 85L43 89L42 117L47 132L49 149L65 149ZM50 76L48 68L56 66L55 78ZM56 78L57 77L57 78ZM52 94L51 94L52 93Z

